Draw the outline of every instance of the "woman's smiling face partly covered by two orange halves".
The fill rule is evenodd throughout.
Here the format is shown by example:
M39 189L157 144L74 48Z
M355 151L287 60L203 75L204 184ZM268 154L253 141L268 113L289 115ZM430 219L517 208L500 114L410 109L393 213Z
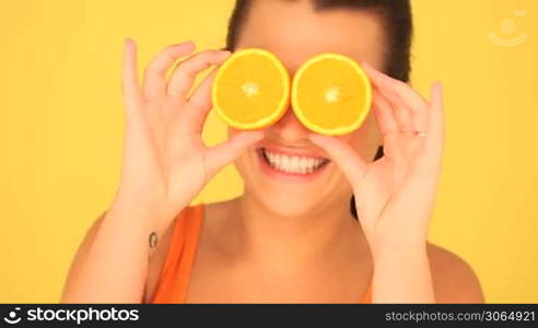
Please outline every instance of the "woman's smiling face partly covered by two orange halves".
M383 69L384 35L378 16L349 8L315 10L311 2L253 1L237 49L272 51L292 78L306 59L321 52L340 52ZM231 134L236 132L229 130ZM291 108L266 129L265 139L235 162L245 181L245 197L284 216L349 207L351 186L307 133ZM338 138L369 161L381 144L373 113L359 130Z

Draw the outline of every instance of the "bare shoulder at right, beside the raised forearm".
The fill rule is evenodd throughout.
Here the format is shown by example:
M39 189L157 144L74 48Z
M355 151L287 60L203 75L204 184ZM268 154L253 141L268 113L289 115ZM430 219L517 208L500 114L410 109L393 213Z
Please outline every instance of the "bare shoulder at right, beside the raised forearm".
M463 258L456 254L428 244L435 297L438 303L483 303L480 281Z

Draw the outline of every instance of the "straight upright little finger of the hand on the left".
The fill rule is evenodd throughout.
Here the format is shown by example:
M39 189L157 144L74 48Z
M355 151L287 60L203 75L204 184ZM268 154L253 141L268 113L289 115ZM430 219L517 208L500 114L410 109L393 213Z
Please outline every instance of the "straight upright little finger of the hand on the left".
M140 97L137 74L137 44L131 38L127 38L124 45L122 91L126 110L130 110Z

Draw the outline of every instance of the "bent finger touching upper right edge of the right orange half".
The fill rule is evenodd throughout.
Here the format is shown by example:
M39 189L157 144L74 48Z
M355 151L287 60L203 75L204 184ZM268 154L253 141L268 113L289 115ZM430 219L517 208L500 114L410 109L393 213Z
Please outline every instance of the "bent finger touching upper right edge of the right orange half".
M402 128L405 130L409 128L420 131L428 130L428 102L409 84L379 72L367 62L364 62L363 66L372 84L381 90L383 95L398 109L396 116ZM407 110L400 110L400 108Z

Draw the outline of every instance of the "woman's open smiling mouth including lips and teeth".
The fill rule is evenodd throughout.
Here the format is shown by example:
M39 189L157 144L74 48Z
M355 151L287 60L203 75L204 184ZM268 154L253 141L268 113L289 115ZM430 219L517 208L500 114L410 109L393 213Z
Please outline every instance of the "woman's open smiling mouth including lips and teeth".
M318 172L330 161L324 157L300 156L283 154L268 149L260 148L257 150L262 160L274 171L293 174L309 175Z

